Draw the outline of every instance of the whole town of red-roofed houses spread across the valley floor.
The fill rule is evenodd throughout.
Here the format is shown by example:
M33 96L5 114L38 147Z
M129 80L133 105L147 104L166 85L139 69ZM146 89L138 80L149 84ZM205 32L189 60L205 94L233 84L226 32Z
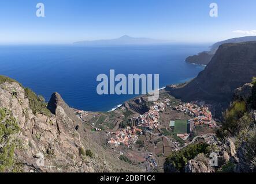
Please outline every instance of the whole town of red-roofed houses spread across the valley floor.
M169 118L169 127L166 128L170 129L170 131L175 133L180 139L187 140L195 126L207 125L209 128L216 127L216 122L214 122L212 118L209 106L205 105L203 102L182 103L179 101L179 104L175 106L171 104L169 98L165 98L163 101L153 102L153 104L149 106L148 112L137 117L132 117L124 128L107 132L107 135L110 137L107 144L113 149L117 148L119 145L133 148L133 145L135 145L143 132L153 133L154 130L159 130L159 127L162 127L159 118L160 114L164 113L166 108L172 108L177 112L183 112L191 117L187 120L172 120L172 117ZM88 112L83 110L75 110L77 116L82 120L88 114ZM92 122L90 125L95 131L102 131L101 128L95 127L95 122Z

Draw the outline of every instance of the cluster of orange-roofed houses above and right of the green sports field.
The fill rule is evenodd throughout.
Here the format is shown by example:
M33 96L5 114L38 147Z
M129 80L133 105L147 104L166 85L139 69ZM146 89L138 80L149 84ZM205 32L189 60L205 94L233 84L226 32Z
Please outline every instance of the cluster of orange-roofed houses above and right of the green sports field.
M198 106L195 104L185 103L176 106L175 109L194 116L195 118L191 120L194 125L205 124L209 125L209 127L214 127L212 113L207 106Z

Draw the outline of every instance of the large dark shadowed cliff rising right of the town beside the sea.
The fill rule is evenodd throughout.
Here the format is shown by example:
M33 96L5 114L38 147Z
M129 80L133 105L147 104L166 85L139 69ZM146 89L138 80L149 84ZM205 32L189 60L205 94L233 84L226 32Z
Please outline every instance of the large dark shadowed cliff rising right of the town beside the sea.
M221 45L205 70L186 86L170 89L184 101L203 100L227 108L233 90L251 82L256 75L256 43Z

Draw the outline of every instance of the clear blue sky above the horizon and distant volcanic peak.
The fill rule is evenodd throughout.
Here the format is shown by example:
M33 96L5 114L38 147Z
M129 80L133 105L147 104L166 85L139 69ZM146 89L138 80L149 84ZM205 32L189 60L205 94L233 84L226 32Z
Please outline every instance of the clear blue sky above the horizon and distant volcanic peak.
M36 17L42 2L46 17ZM210 3L218 17L210 17ZM180 43L256 36L255 0L1 0L0 44L73 43L128 34Z

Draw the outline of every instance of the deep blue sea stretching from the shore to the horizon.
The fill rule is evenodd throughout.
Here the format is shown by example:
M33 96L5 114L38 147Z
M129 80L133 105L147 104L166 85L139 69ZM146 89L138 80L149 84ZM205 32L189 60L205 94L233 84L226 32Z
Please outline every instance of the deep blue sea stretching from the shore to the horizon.
M57 91L69 106L107 111L134 95L98 95L97 75L159 74L159 87L194 78L203 66L184 62L207 45L77 47L74 45L1 45L0 75L30 87L49 101Z

